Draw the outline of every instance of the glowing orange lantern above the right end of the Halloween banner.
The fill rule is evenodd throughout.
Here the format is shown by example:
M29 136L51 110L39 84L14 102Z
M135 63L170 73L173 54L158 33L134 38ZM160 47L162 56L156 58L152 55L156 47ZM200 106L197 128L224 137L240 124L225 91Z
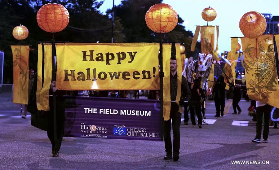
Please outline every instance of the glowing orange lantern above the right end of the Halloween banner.
M170 5L159 3L146 12L145 22L156 33L168 33L177 25L178 15Z

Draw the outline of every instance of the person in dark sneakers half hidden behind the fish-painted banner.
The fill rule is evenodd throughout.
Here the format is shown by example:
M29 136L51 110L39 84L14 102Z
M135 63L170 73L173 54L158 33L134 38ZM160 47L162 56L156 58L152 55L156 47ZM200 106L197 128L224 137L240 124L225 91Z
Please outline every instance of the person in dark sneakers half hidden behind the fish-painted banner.
M271 113L271 106L256 101L256 137L252 140L252 142L261 142L261 134L262 134L262 120L264 116L264 125L263 125L263 142L268 143L268 132L269 132L269 119Z

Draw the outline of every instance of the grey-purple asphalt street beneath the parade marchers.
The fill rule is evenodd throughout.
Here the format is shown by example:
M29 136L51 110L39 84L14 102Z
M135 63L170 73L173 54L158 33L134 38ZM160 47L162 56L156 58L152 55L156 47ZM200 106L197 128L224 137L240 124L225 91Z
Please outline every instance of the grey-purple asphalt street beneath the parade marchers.
M0 169L279 169L279 129L270 127L269 143L252 143L256 124L249 106L241 101L241 114L232 115L226 100L224 117L215 118L214 102L206 101L210 124L199 129L181 122L180 159L174 162L163 160L164 142L73 137L63 138L54 158L47 132L31 126L30 117L20 118L19 104L2 104Z

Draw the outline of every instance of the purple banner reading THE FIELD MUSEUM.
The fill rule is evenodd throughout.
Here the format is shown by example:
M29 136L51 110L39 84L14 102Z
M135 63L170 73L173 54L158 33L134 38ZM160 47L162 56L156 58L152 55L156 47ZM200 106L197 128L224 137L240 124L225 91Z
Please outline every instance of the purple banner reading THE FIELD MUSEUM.
M162 141L160 102L66 96L65 136Z

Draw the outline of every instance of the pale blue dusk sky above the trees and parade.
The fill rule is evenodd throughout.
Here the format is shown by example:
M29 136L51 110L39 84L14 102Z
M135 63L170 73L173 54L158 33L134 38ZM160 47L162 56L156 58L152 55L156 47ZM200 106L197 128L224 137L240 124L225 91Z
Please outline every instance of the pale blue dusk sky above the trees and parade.
M115 0L114 4L119 5L121 0ZM206 7L212 7L217 12L215 20L208 25L220 25L219 28L219 50L230 50L230 37L241 37L243 34L239 29L239 20L243 14L249 11L279 15L279 0L164 0L172 6L178 15L186 22L186 30L195 32L196 25L206 25L207 22L201 18L201 11ZM112 8L113 0L105 0L100 7L100 11L105 13L108 8ZM144 17L144 16L143 16ZM188 23L187 23L188 21ZM200 37L198 38L200 40ZM238 42L241 44L240 39ZM215 30L216 44L216 30Z

